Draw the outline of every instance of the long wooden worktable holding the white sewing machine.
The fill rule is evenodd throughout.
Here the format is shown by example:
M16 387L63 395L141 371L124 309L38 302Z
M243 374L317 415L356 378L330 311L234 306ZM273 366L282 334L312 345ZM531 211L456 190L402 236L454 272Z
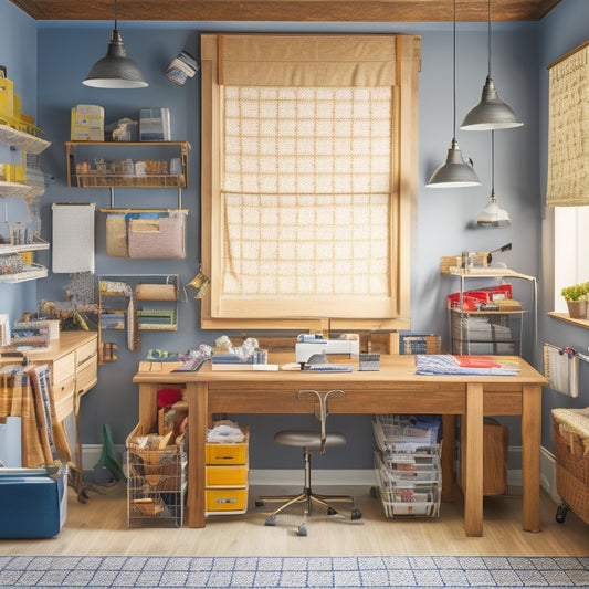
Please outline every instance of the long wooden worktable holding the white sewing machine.
M293 360L293 355L271 355L269 359L278 365ZM203 527L206 520L204 444L210 413L313 413L313 400L298 399L298 390L341 389L346 397L329 402L330 413L444 416L443 481L452 478L449 417L462 416L464 529L467 536L482 536L484 416L522 417L523 528L539 532L541 387L546 379L523 359L520 368L517 376L507 377L418 376L413 356L381 356L378 372L212 371L207 362L197 372L139 370L134 382L139 385L139 420L146 431L157 423L157 389L186 386L190 527Z

